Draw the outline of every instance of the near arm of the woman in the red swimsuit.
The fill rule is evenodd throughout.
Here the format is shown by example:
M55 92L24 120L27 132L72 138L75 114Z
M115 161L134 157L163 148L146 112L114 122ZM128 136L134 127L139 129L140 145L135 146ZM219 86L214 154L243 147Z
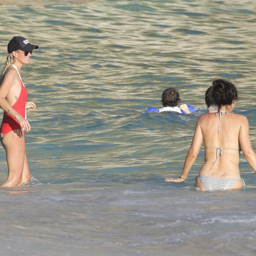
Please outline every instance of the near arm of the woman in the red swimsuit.
M2 84L0 85L0 108L10 116L16 118L21 128L24 128L26 132L30 132L29 122L23 118L15 109L13 109L10 103L7 101L6 96L11 90L11 87L15 84L17 72L14 69L8 69L4 75Z

